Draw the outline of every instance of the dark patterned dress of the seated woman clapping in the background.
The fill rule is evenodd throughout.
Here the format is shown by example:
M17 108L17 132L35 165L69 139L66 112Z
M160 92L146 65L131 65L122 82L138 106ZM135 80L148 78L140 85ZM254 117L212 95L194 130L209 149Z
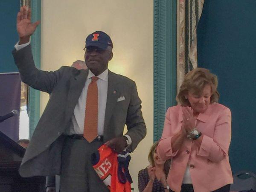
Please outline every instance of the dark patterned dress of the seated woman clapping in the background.
M143 192L149 182L148 169L142 169L138 174L138 188L140 192ZM164 192L163 185L155 178L153 182L152 192Z

